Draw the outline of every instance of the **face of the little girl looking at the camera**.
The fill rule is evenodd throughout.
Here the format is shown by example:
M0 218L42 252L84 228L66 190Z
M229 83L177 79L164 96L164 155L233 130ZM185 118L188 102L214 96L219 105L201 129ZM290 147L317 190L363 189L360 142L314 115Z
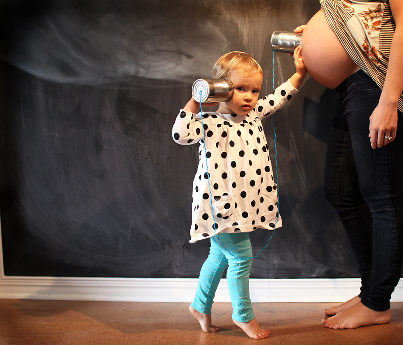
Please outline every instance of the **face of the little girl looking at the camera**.
M258 102L260 88L262 87L262 73L245 76L235 71L227 77L234 85L234 94L228 102L221 102L218 112L222 114L248 114Z

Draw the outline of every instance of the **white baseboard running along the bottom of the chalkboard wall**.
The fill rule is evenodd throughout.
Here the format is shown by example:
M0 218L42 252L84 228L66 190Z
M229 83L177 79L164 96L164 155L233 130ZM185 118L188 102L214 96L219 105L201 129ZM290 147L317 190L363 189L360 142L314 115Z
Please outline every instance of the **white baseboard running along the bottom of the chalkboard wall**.
M197 278L56 278L0 277L0 299L191 302ZM343 302L359 291L358 278L251 279L251 300L276 302ZM226 279L216 302L230 302ZM403 281L391 301L403 301Z

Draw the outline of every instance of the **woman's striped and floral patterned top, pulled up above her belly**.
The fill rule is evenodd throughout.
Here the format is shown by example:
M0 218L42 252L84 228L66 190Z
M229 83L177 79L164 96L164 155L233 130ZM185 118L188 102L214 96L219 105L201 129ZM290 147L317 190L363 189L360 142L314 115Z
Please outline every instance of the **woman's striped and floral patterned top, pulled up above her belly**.
M396 29L389 1L320 0L320 4L349 56L382 89ZM403 94L398 109L403 112Z

